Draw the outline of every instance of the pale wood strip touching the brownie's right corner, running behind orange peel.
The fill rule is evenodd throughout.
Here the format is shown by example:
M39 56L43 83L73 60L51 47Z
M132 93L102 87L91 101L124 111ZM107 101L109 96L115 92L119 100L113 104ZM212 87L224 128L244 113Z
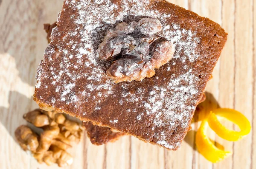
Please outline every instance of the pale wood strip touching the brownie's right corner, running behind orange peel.
M222 27L228 33L227 43L220 57L220 71L219 71L219 96L218 102L220 107L234 108L234 70L235 70L235 53L234 53L234 12L235 1L234 0L222 0ZM227 76L228 74L228 76ZM227 94L229 93L229 94ZM222 123L229 129L233 128L233 124L229 121L222 121ZM225 150L233 152L233 142L225 141L216 135L215 141L218 144L224 146ZM217 146L220 148L220 146ZM225 159L220 163L214 164L214 169L232 169L233 156Z

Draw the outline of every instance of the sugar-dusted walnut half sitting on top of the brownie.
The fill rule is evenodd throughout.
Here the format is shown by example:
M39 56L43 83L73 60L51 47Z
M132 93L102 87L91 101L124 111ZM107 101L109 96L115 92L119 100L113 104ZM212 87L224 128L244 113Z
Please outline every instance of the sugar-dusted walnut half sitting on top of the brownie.
M98 48L100 60L112 61L107 75L115 83L154 76L154 69L169 62L175 52L172 42L157 35L162 30L159 20L143 18L108 31Z

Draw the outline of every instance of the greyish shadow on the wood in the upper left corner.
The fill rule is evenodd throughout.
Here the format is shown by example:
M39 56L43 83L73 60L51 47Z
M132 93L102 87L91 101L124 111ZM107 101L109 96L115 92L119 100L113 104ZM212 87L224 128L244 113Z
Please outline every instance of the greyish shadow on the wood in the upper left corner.
M47 47L43 24L56 20L62 4L62 0L0 0L0 55L15 58L20 79L30 86L36 83L36 69Z

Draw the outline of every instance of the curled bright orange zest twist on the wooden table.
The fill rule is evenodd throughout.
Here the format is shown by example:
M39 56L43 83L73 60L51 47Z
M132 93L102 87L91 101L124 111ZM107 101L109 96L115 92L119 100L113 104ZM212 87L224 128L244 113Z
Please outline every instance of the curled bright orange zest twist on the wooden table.
M237 132L227 129L221 124L217 116L226 118L227 120L238 125L240 131ZM251 130L250 122L248 119L242 113L236 110L221 108L214 110L214 112L210 112L209 117L202 121L201 126L196 133L195 144L198 148L198 152L200 152L207 160L211 161L212 163L222 161L232 153L219 149L210 141L207 136L208 126L218 136L227 141L239 141L240 139L244 138L244 136L248 135Z

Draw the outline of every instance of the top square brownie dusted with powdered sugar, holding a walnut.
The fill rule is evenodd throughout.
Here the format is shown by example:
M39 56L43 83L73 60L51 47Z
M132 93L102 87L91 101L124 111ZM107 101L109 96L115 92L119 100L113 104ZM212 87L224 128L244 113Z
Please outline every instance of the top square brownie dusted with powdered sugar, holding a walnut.
M143 29L138 23L146 18L160 23L159 30L154 32L154 23ZM126 25L125 31L133 29L122 33L135 34L137 39L132 41L143 39L147 54L140 50L135 58L122 39L121 53L110 53L109 60L99 57L99 51L109 54L99 46L119 30L119 23ZM143 37L137 36L138 28ZM152 28L149 33L147 28ZM176 150L190 129L226 40L227 33L217 23L164 0L65 0L38 68L35 101L42 109L55 109ZM145 42L157 44L151 49ZM136 51L141 44L128 45ZM174 54L161 44L174 48ZM159 55L154 57L159 46L159 54L168 55L164 62ZM107 47L116 52L117 47ZM143 64L133 67L135 61ZM145 69L150 73L146 71L140 79L148 63L157 66ZM110 71L114 64L122 69Z

